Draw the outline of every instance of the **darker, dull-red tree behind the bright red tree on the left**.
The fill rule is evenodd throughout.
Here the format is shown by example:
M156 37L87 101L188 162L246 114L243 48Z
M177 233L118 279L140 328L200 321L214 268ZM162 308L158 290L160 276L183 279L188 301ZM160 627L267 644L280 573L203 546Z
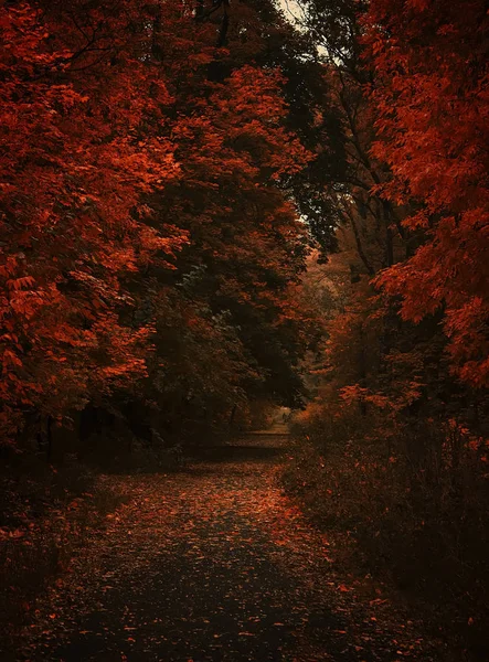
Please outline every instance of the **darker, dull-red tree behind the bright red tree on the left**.
M187 388L176 392L177 403L170 405L177 382L167 384L168 404L161 406L181 412L185 405L192 415L200 410L219 416L223 407L228 415L244 395L289 404L300 396L295 369L308 340L300 311L293 313L287 303L287 291L302 270L307 237L278 184L304 168L308 154L283 126L286 106L277 74L242 66L212 85L205 74L206 67L201 93L185 96L180 120L177 158L182 178L150 204L162 217L176 215L189 236L172 275L185 307L194 311L187 318L187 337L198 346L200 324L216 339L232 332L242 363L221 385L219 370L201 383L200 365L208 365L212 352L194 352L194 367L189 362L184 373ZM161 324L168 334L164 316ZM228 340L223 337L221 342L223 348ZM164 373L164 348L162 352ZM225 363L217 366L224 370Z

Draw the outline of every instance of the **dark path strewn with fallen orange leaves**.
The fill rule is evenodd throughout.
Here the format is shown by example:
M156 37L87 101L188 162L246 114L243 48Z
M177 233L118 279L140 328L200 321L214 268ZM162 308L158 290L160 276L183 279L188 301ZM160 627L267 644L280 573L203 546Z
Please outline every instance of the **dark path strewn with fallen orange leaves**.
M208 448L171 474L109 479L125 503L38 602L9 660L403 662L449 660L277 480L286 429Z

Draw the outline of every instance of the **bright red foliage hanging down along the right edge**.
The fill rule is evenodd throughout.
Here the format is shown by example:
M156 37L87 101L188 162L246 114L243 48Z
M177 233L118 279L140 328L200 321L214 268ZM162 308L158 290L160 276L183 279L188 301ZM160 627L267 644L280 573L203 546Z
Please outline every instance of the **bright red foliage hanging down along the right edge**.
M482 0L373 0L365 21L383 194L425 241L378 279L404 319L443 308L459 375L489 384L489 17Z

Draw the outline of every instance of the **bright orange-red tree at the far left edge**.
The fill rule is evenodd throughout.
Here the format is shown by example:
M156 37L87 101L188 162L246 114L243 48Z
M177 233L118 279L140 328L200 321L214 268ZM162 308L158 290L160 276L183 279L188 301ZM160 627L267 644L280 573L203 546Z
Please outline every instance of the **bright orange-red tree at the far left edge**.
M149 226L140 204L178 173L173 146L151 129L170 97L145 61L149 17L130 2L0 11L9 435L22 412L57 417L146 373L151 327L121 320L132 306L123 280L153 256L169 266L183 235Z

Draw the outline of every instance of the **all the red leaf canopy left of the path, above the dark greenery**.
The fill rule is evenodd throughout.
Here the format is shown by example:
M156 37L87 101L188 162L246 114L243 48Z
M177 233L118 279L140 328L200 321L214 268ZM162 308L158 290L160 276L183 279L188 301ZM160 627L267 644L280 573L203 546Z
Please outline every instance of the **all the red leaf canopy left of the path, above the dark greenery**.
M264 274L283 289L295 277L300 233L276 184L309 157L283 128L280 76L243 66L211 81L213 28L183 6L9 3L0 25L9 437L29 410L62 417L147 373L155 320L135 321L135 292L189 242L183 268L220 265L223 301L286 316Z

